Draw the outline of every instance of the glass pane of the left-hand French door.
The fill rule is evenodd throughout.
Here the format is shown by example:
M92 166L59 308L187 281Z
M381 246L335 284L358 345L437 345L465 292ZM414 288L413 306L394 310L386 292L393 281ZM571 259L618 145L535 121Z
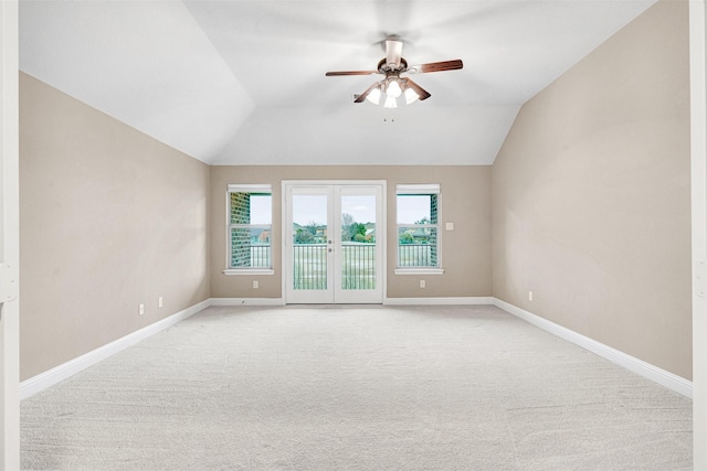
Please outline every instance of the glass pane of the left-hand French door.
M327 196L293 195L294 289L327 289Z

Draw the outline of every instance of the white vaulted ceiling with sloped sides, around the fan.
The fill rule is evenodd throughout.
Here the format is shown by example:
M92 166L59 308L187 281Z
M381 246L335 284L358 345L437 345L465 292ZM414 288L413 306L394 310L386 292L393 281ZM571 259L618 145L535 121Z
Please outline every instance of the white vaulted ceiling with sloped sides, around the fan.
M20 68L212 164L489 164L519 107L655 0L20 2ZM398 34L425 101L354 104ZM391 120L392 119L392 120Z

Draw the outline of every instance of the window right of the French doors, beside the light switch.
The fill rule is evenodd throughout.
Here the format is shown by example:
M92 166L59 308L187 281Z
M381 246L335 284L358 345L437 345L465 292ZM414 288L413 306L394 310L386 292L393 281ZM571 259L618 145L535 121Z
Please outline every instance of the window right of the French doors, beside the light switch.
M398 185L397 193L397 272L440 270L440 185Z

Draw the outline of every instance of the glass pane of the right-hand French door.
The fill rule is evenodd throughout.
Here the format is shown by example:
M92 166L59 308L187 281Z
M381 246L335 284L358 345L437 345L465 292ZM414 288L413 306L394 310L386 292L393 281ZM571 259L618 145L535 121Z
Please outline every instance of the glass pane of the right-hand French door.
M341 289L376 289L376 196L341 196Z

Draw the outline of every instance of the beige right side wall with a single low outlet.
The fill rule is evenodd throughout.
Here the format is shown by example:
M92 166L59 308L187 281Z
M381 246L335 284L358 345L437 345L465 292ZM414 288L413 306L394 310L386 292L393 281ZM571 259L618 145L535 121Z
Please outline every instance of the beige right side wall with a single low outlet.
M492 184L494 296L685 378L688 85L687 2L658 2L524 105Z

